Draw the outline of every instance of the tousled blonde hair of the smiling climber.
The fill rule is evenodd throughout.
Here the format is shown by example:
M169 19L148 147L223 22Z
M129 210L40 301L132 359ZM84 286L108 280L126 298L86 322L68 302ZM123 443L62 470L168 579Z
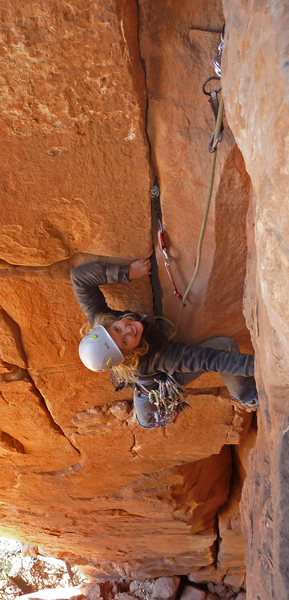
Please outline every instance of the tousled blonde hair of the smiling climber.
M117 318L111 313L100 313L95 317L92 327L102 325L107 329L110 325L115 323L115 321L122 321L123 319L129 319L131 321L136 320L135 314L130 312L125 313L120 318ZM85 335L92 329L92 327L90 327L89 323L87 322L81 327L80 333ZM125 383L133 383L136 379L140 357L145 356L145 354L148 352L148 349L148 342L142 336L139 345L133 350L130 350L124 354L124 361L120 365L112 367L112 373Z

